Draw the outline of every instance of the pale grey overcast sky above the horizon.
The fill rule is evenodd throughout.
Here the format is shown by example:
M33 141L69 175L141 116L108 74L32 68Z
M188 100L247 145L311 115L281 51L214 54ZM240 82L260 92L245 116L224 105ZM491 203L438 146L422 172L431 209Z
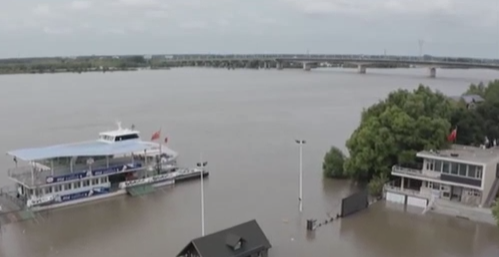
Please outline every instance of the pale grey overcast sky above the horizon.
M0 58L338 53L499 58L499 0L0 0Z

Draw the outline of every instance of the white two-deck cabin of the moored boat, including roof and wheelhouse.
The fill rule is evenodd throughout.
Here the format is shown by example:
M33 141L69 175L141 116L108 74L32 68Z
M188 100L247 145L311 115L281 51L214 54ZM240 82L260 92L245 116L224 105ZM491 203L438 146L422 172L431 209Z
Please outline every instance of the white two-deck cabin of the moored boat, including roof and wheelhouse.
M99 133L94 141L8 152L16 166L9 170L9 177L16 182L16 197L33 205L56 197L70 199L109 192L131 176L144 177L145 172L155 170L158 163L152 157L176 158L174 151L142 141L139 134L118 124L117 130ZM161 154L157 154L160 148Z

